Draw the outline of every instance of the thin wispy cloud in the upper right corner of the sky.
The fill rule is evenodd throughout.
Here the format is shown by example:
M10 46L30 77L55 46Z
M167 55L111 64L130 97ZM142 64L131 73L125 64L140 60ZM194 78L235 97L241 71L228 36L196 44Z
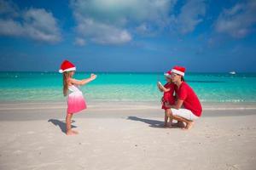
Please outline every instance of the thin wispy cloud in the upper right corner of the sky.
M226 33L231 37L246 37L256 23L256 1L237 3L218 16L215 23L216 31Z

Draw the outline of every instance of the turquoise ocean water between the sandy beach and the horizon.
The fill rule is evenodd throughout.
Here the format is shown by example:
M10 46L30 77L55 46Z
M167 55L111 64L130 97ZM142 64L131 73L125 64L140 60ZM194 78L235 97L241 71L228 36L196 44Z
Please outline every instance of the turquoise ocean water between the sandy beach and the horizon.
M74 78L90 74L76 72ZM163 73L98 73L82 86L90 101L160 101L156 82ZM187 73L189 85L202 102L256 102L256 73ZM2 101L63 101L62 75L58 72L0 72Z

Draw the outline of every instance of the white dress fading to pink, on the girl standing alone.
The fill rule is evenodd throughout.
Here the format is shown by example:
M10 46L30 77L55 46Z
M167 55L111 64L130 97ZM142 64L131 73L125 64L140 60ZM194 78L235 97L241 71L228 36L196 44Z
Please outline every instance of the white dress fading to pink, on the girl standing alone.
M86 103L79 87L72 85L68 87L67 113L73 114L86 109Z

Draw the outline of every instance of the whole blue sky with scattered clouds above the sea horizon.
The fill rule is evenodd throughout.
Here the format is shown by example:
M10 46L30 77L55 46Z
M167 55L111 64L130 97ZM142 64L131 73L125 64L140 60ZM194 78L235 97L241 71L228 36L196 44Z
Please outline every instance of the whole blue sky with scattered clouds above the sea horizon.
M256 1L0 0L0 71L255 72Z

